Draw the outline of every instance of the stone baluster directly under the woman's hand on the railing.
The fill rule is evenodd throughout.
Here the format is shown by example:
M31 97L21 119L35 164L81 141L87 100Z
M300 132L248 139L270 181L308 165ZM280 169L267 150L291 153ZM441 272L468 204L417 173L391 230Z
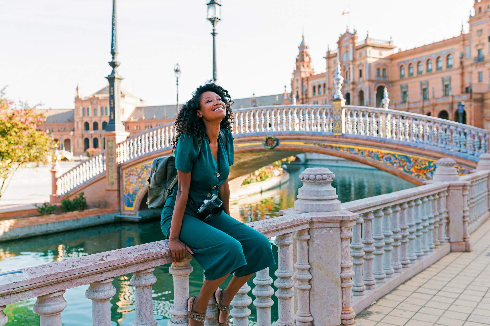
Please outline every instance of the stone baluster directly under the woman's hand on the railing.
M189 256L189 255L188 255ZM189 298L189 274L192 273L192 257L182 259L180 262L172 263L169 273L173 276L173 305L170 308L172 319L169 326L181 326L188 322L187 298Z

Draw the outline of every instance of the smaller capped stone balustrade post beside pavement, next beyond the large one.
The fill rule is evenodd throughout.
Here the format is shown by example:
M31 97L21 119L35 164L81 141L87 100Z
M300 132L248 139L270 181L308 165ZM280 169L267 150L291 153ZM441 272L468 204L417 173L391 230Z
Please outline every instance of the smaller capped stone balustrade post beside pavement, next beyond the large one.
M451 251L464 252L471 251L468 233L467 196L465 191L469 187L469 182L461 181L458 171L454 166L456 162L451 158L442 158L437 161L436 171L432 178L433 181L444 181L448 183L446 205L448 210L448 236L451 243ZM466 190L465 190L466 189ZM466 217L466 218L465 218Z

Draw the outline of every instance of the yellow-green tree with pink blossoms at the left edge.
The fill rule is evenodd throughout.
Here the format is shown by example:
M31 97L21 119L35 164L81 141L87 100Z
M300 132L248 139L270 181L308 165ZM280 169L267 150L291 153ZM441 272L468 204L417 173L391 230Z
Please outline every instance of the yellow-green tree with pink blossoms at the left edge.
M44 132L37 130L44 122L43 114L4 97L0 90L0 199L8 186L7 180L27 163L47 164L54 154L55 144Z

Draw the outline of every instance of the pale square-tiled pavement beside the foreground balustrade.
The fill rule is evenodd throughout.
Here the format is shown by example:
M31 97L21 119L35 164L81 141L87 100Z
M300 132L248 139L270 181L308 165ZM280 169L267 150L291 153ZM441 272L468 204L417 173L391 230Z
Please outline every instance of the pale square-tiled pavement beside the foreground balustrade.
M490 220L472 252L450 253L356 316L364 326L490 325Z

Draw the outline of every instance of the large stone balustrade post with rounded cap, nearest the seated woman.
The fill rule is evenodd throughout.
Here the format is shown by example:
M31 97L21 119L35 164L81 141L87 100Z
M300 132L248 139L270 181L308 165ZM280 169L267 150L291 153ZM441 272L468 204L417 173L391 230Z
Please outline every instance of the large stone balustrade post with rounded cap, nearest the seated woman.
M325 167L309 167L299 176L303 186L298 190L294 209L311 216L308 261L311 264L310 298L315 298L310 313L314 325L354 324L351 307L352 270L349 239L359 214L341 210L335 175ZM325 255L328 252L329 255Z

